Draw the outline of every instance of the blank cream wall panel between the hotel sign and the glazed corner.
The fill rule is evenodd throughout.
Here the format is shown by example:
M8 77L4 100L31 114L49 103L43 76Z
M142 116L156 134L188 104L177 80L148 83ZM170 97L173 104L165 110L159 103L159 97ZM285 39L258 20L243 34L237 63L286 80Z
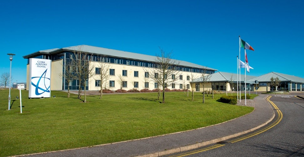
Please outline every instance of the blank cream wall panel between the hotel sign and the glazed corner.
M62 59L52 61L51 90L62 90Z

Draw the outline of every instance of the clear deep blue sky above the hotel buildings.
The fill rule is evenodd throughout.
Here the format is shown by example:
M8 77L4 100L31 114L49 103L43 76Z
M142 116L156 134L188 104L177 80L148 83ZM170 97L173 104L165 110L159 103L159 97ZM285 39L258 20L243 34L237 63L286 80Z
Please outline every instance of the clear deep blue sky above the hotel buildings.
M174 58L236 73L239 35L247 75L279 72L304 78L304 1L3 1L0 74L26 82L27 60L39 50L92 45ZM244 61L244 50L241 50ZM244 69L242 69L244 74Z

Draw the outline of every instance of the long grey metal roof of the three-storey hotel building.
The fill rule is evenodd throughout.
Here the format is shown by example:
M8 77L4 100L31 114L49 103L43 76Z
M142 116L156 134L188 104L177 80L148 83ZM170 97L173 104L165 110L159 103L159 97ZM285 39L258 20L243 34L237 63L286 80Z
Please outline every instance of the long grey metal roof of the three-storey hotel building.
M94 54L101 54L101 55L113 56L113 57L119 57L119 58L143 60L143 61L149 61L149 62L155 62L155 59L156 59L155 56L150 56L150 55L146 55L146 54L120 51L120 50L101 48L101 47L89 46L89 45L78 45L78 46L71 46L71 47L60 48L60 49L57 48L57 49L54 49L53 51L49 51L49 53L55 54L62 50L68 50L68 51L81 50L82 52L86 52L86 53L94 53ZM46 52L47 50L43 50L43 51ZM40 51L38 51L38 52L40 52ZM36 52L36 53L38 53L38 52ZM30 54L30 55L32 55L32 54ZM23 58L27 58L30 55L23 56ZM177 62L180 62L179 65L181 65L181 66L193 67L193 68L206 68L209 70L217 71L217 69L214 69L214 68L209 68L209 67L205 67L202 65L198 65L195 63L190 63L190 62L186 62L186 61L182 61L182 60L177 60Z

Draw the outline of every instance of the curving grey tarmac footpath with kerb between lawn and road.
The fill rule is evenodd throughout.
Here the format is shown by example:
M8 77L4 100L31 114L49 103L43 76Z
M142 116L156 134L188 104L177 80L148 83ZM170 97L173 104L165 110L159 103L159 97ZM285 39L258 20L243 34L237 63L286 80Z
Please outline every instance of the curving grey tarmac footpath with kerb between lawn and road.
M255 109L250 114L221 124L144 139L78 149L28 154L27 156L161 156L195 149L246 134L268 124L274 118L275 114L272 106L265 99L267 96L268 94L260 94L254 99Z

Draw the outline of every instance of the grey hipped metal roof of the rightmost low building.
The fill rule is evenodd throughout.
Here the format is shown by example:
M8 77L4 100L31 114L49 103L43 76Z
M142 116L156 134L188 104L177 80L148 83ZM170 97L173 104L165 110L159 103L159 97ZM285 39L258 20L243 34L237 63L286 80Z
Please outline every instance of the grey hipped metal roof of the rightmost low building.
M284 73L277 73L277 72L266 73L264 75L254 78L254 80L258 80L259 82L270 82L271 77L273 77L273 78L278 77L280 79L280 81L304 83L303 78L293 76L293 75L287 75ZM252 81L252 80L253 79L250 79L249 81Z

